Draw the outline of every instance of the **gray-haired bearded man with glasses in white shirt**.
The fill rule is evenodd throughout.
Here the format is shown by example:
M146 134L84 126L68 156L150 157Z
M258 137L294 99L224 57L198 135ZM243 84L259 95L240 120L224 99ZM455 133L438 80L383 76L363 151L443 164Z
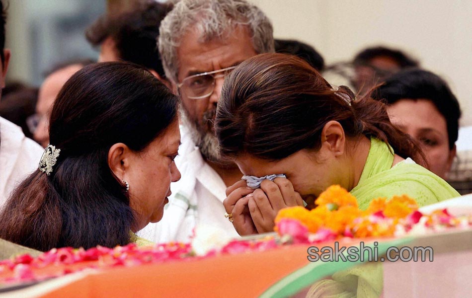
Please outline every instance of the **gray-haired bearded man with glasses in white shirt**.
M225 218L226 188L241 172L220 157L213 121L225 77L244 60L274 52L272 25L245 0L182 0L161 22L159 53L173 91L181 97L182 179L157 224L141 233L158 243L186 242L198 225L238 237Z

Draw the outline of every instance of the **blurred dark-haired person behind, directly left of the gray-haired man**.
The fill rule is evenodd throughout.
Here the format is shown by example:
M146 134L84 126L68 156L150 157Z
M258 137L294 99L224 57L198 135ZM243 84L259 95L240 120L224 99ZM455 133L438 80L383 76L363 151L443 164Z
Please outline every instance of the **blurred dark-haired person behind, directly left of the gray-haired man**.
M100 47L98 62L121 60L144 66L169 87L156 39L160 21L171 9L170 3L146 0L117 16L102 15L88 27L85 37Z

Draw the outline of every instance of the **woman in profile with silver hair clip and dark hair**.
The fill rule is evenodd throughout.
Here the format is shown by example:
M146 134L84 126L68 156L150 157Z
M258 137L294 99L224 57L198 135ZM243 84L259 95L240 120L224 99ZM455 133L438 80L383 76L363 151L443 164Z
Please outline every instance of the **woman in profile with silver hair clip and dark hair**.
M139 66L101 63L74 74L53 106L39 170L2 209L0 238L43 251L140 244L133 232L162 218L180 179L177 105Z

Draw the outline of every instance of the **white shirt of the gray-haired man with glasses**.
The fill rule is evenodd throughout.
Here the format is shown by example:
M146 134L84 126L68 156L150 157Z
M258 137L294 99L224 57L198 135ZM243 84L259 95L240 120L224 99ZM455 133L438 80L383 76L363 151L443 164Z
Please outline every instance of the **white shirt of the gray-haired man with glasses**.
M162 220L148 224L139 235L156 243L189 242L195 226L204 224L222 230L224 236L239 237L233 224L224 217L223 179L205 162L188 130L183 126L180 130L182 145L175 163L182 177L171 184L172 195Z

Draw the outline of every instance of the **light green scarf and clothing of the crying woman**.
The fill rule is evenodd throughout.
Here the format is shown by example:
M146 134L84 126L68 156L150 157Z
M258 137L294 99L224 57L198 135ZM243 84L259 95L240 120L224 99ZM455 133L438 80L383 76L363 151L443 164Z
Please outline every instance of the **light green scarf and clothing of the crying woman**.
M360 209L367 209L373 199L390 199L394 195L406 194L420 207L460 196L446 181L418 164L401 161L392 167L394 154L389 149L386 143L371 138L361 178L351 190ZM379 297L383 283L382 264L368 263L316 283L307 297Z

